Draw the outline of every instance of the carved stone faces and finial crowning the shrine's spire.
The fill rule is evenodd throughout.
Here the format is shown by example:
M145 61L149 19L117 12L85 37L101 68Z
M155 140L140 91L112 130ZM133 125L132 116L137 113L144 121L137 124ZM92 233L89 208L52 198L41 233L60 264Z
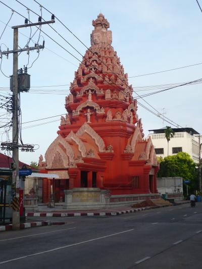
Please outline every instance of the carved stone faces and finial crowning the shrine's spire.
M112 31L108 31L110 24L105 19L105 16L100 13L97 19L92 21L92 25L94 26L94 30L90 35L91 45L111 45Z

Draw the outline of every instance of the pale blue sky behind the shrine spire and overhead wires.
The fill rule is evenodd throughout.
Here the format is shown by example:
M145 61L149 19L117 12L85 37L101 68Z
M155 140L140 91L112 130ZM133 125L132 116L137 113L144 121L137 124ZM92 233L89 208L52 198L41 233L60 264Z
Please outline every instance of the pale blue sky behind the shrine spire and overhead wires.
M1 0L15 11L28 17L27 9L15 0ZM72 31L87 47L90 46L90 33L93 30L92 20L102 12L110 23L112 30L112 46L120 57L125 73L128 73L129 84L133 85L136 93L134 98L142 94L169 88L170 85L183 84L202 78L202 13L196 1L189 0L116 0L102 1L68 1L68 0L38 0L44 8L33 0L20 1L30 10L40 14L46 21L51 20L44 8L54 13L68 29ZM202 7L202 0L198 1ZM0 3L0 36L11 17L11 10ZM38 16L31 11L30 21L37 22ZM11 26L24 24L24 18L14 12L4 34L0 39L2 51L13 49L13 29ZM81 55L86 47L81 44L58 20L52 25ZM45 34L52 37L66 50L80 61L81 55L64 41L51 27L44 25L41 28ZM36 28L32 27L32 34ZM31 34L31 35L32 35ZM65 114L65 96L69 94L69 84L74 79L74 72L78 69L79 61L61 48L53 40L39 30L33 36L29 45L34 46L39 35L39 44L45 40L45 48L38 53L30 52L29 63L27 52L19 56L18 66L28 64L28 73L31 75L31 88L28 93L21 93L22 111L22 140L24 144L35 144L39 147L35 152L19 152L21 162L30 164L38 162L40 154L44 156L48 146L57 137L60 116L31 122ZM19 29L19 46L26 45L30 36L30 28ZM145 75L160 71L181 68L169 72ZM13 55L7 59L3 56L2 71L10 76L13 72ZM144 75L144 76L142 76ZM60 85L60 86L59 86ZM61 86L62 85L62 86ZM163 86L161 86L163 85ZM154 87L151 87L154 86ZM8 96L10 93L10 79L0 72L0 94ZM142 91L144 90L144 91ZM202 134L201 124L201 85L200 83L169 89L157 94L139 98L140 104L149 110L167 117L170 123L138 105L137 114L142 119L145 137L148 130L159 129L163 126L176 125L191 127ZM145 102L146 101L146 102ZM150 106L151 105L151 106ZM3 126L11 115L4 115L0 111L0 127ZM164 114L166 113L166 114ZM4 118L7 119L4 119ZM171 122L172 121L172 122ZM30 123L26 123L30 122ZM48 123L47 123L48 122ZM40 124L40 125L39 125ZM37 126L36 126L37 125ZM8 133L0 129L1 142L8 141ZM12 133L9 133L10 139ZM5 153L4 151L1 151Z

